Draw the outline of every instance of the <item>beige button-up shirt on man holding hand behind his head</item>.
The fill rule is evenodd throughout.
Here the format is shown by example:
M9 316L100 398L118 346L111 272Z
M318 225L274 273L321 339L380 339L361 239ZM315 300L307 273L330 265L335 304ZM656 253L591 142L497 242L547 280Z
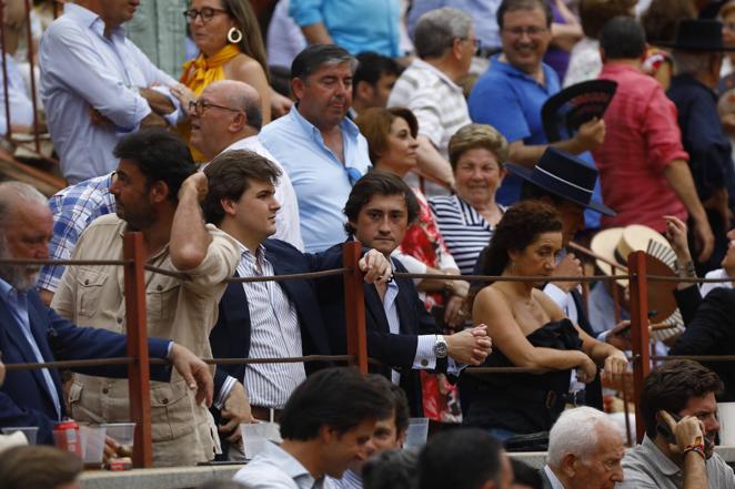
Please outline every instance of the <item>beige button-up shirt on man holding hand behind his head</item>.
M111 214L94 221L81 235L72 259L122 259L127 223ZM218 303L239 261L236 242L208 225L212 236L190 279L145 272L148 335L170 338L200 357L211 358L209 333L217 322ZM168 245L149 265L175 271ZM121 266L67 267L51 306L80 326L125 333ZM90 422L129 420L128 380L78 375L70 393L71 415ZM151 383L153 459L157 466L195 465L211 460L217 434L207 407L197 406L181 377Z

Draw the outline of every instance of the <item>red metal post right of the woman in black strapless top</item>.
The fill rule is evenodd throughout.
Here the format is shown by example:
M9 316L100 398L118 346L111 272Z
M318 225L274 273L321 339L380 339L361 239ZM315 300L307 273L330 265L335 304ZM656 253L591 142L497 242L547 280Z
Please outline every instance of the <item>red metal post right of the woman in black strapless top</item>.
M641 414L641 390L643 379L648 374L648 284L646 282L646 254L631 253L627 257L627 273L631 284L631 343L633 346L633 401L635 403L635 432L638 442L643 440L645 425Z

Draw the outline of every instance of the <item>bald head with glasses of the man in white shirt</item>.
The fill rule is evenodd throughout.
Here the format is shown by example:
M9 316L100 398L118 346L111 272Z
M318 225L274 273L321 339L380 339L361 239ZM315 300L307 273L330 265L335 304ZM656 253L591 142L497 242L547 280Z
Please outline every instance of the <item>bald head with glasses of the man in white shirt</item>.
M260 132L263 123L261 98L248 83L215 81L207 85L199 100L203 106L191 114L189 141L208 160L232 143Z

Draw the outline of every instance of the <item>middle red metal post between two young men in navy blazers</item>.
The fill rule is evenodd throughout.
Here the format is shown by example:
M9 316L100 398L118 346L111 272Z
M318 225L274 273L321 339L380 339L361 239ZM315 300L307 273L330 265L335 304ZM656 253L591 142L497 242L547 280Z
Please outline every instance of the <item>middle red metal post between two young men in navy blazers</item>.
M368 373L368 338L365 336L365 291L363 288L360 257L362 246L356 241L342 246L344 273L344 307L348 328L348 355L354 355L351 365L363 374Z

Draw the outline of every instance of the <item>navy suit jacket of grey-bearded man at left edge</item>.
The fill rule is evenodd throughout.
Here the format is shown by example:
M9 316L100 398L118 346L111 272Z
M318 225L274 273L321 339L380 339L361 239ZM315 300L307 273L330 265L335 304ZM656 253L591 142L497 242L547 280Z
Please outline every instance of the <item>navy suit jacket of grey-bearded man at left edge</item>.
M61 318L50 307L43 305L36 292L28 292L28 316L33 338L46 361L77 360L85 358L124 357L125 336L117 333L77 327ZM150 356L165 358L168 340L149 339ZM28 344L21 326L17 324L9 305L0 297L0 352L7 364L36 363L31 346ZM77 371L103 377L125 377L124 365L90 367ZM50 368L51 379L64 414L63 394L59 371ZM168 381L170 367L151 367L151 376L157 380ZM51 393L41 370L8 371L4 384L0 387L0 427L37 426L39 444L53 444L52 429L57 422L57 411Z

